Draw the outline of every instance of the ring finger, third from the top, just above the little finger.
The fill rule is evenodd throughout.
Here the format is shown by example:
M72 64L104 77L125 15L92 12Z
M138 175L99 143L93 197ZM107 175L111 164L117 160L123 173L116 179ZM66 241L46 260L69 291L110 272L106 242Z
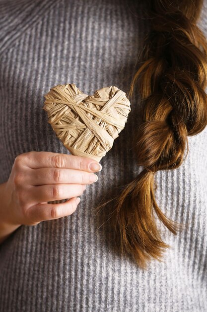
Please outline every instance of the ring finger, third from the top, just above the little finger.
M29 202L40 203L80 196L85 184L48 184L30 188Z

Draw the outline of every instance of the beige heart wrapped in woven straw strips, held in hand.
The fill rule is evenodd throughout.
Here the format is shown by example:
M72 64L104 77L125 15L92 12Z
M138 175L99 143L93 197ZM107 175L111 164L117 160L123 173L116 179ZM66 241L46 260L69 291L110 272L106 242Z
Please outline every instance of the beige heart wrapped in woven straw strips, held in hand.
M44 97L48 122L64 146L97 161L112 148L131 111L126 93L115 86L87 95L73 83L57 85Z

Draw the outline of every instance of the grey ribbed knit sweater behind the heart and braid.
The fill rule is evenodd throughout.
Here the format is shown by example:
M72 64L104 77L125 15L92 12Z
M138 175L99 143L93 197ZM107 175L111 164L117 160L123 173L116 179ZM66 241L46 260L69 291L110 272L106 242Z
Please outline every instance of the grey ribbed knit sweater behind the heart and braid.
M139 2L139 1L134 1ZM0 183L15 157L28 151L70 154L42 110L57 84L84 93L115 85L127 92L147 20L126 0L0 1ZM201 27L207 34L207 1ZM76 211L36 226L20 226L0 245L0 312L207 311L207 128L189 137L175 170L158 171L162 211L189 226L170 233L163 262L143 271L114 252L110 208L95 208L141 171L131 136L139 121L132 102L127 124L100 161L97 182ZM113 207L111 207L113 209Z

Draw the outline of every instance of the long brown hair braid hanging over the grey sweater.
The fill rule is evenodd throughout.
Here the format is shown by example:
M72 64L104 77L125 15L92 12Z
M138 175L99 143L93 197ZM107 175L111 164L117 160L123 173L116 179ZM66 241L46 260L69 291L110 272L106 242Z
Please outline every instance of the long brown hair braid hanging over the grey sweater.
M181 225L156 204L153 172L179 167L187 136L207 125L207 40L196 24L202 5L202 0L147 0L151 28L129 91L131 97L137 84L142 123L135 150L143 170L122 190L111 218L119 248L143 269L151 257L161 261L169 247L153 213L174 234Z

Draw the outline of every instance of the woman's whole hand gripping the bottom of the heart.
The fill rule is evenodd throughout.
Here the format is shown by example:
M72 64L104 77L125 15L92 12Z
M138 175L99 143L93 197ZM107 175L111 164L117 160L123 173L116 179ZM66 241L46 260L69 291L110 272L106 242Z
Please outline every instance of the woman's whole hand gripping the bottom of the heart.
M98 179L88 157L53 152L27 152L16 156L10 176L3 183L4 224L18 227L71 215L77 208L76 196ZM68 199L64 203L48 201Z

